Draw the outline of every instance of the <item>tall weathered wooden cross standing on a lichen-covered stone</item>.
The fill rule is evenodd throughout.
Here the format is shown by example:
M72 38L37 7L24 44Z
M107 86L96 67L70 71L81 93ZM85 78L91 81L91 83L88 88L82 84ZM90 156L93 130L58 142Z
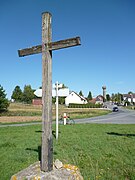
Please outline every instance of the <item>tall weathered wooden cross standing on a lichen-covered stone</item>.
M52 42L52 16L42 13L42 45L18 50L19 57L42 53L42 147L41 170L53 169L52 140L52 50L80 45L80 38Z

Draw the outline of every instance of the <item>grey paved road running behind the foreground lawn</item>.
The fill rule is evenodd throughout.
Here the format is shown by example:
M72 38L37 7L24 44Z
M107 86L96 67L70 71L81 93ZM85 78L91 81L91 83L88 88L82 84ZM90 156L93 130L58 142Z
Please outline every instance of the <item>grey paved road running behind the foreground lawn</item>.
M84 124L84 123L98 123L98 124L135 124L135 111L127 110L125 108L119 107L118 112L111 112L108 115L98 116L93 118L86 119L76 119L76 124ZM35 123L23 123L23 124L8 124L8 125L0 125L0 127L8 127L8 126L29 126L41 124L40 122Z

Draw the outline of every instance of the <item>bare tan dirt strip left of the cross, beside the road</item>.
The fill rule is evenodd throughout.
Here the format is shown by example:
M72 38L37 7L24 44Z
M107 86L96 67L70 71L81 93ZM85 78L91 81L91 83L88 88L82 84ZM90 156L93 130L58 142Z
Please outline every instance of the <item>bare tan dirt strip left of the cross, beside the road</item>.
M0 123L41 121L40 116L1 116Z

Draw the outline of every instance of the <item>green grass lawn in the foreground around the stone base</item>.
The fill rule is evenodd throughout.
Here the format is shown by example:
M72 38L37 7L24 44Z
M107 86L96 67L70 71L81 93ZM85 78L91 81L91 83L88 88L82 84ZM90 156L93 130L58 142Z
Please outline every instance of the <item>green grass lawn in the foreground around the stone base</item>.
M135 179L135 125L59 126L54 159L80 168L85 180ZM53 126L55 130L55 126ZM0 179L40 158L41 126L0 128Z

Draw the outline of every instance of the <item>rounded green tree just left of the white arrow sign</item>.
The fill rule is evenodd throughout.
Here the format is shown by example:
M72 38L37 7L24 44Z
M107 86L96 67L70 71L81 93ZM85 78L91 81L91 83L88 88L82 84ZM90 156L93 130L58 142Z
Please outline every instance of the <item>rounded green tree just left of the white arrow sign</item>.
M31 104L33 98L34 98L34 92L31 88L31 86L25 85L24 90L23 90L23 98L22 98L23 102L25 102L27 104Z

